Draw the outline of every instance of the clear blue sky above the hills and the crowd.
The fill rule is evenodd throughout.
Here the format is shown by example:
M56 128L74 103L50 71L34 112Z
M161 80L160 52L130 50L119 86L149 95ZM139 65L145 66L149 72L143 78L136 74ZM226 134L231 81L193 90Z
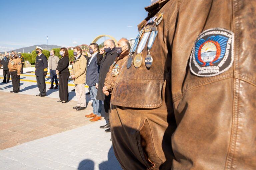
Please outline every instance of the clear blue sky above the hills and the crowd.
M1 0L0 51L89 44L101 34L135 38L150 0ZM104 39L99 40L99 43Z

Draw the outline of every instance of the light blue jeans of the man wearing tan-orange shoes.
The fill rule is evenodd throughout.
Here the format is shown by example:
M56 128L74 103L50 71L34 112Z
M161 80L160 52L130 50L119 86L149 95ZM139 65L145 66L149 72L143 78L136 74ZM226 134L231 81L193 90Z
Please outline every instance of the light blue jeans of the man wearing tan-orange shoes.
M96 89L95 86L89 86L89 92L90 92L91 99L92 99L93 114L95 114L97 116L101 116L102 103L100 100L96 100L97 91L98 91L98 89Z

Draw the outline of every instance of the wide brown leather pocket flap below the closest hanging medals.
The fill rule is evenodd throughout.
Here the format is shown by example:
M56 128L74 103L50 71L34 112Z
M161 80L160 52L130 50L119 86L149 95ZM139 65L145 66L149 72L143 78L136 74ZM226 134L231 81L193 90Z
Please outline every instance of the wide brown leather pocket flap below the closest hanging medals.
M154 109L162 106L163 79L131 79L115 84L112 92L113 105Z

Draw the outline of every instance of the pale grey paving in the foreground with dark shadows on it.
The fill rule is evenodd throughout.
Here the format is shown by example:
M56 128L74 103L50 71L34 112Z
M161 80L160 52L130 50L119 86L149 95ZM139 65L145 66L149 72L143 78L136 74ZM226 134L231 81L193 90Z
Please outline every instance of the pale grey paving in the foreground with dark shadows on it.
M110 133L99 128L104 123L95 122L0 150L0 165L3 162L9 170L121 170Z

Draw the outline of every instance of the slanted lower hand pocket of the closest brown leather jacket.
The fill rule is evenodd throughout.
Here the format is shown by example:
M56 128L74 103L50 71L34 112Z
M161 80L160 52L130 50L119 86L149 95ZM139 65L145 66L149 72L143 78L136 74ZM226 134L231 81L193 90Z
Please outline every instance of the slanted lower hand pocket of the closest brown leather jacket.
M159 169L159 166L163 162L156 154L152 131L147 119L144 118L141 120L139 130L136 131L135 135L144 165L152 170Z

